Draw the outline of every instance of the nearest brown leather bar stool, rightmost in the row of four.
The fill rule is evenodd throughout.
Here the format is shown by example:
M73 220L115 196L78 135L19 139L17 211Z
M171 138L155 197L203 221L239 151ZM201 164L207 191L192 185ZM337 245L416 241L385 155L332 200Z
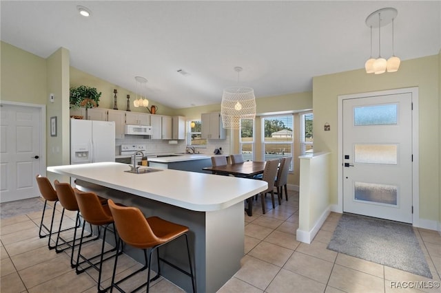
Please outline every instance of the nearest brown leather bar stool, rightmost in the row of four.
M134 291L137 291L144 285L147 285L147 292L149 292L150 281L154 281L158 279L159 276L161 276L161 265L159 264L160 261L167 263L167 265L170 265L172 268L175 268L176 270L183 272L183 274L191 277L193 292L196 292L196 284L194 282L194 274L192 269L192 260L190 258L190 251L188 246L187 232L189 229L185 226L174 224L170 221L165 221L164 219L161 219L159 217L145 218L139 208L117 206L116 204L114 204L112 199L109 199L107 202L115 221L116 230L118 230L118 234L120 237L119 245L120 243L122 244L122 241L124 241L134 248L142 249L145 259L145 265L143 266L143 268L136 270L136 272L132 272L132 274L125 276L125 278L115 282L116 265L118 263L118 255L116 255L115 265L112 274L112 287L110 288L110 292L112 292L114 287L120 292L124 292L118 284L145 269L148 270L147 282L137 287ZM190 272L187 272L182 268L178 268L173 263L170 263L162 257L159 257L159 248L161 246L169 243L170 241L178 239L178 237L181 237L183 235L185 235L185 241L187 243L187 255ZM147 249L150 250L148 258ZM158 272L156 276L154 276L154 278L150 279L150 269L152 268L152 254L155 250L158 260Z

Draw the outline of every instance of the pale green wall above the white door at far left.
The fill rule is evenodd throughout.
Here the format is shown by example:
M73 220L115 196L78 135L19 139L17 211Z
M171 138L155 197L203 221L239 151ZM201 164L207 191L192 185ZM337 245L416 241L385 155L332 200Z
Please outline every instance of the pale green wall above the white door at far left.
M0 42L1 100L46 105L46 61Z

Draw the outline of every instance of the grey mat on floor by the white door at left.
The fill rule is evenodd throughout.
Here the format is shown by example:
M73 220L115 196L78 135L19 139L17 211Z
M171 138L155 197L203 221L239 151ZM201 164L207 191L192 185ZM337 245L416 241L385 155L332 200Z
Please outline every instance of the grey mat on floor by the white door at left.
M0 204L0 218L6 219L18 215L38 212L43 210L44 201L40 197L2 202Z

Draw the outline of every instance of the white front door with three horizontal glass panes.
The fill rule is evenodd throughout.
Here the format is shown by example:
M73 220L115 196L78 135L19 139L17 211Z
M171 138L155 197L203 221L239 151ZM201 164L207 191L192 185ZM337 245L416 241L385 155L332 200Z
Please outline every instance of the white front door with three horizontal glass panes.
M412 223L410 93L343 100L343 211Z

